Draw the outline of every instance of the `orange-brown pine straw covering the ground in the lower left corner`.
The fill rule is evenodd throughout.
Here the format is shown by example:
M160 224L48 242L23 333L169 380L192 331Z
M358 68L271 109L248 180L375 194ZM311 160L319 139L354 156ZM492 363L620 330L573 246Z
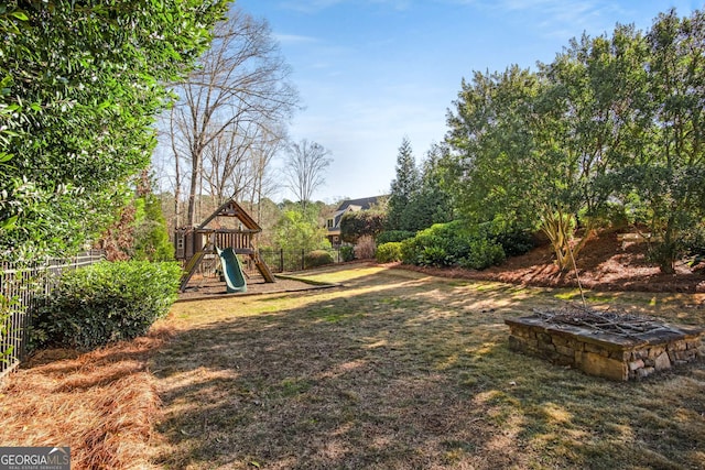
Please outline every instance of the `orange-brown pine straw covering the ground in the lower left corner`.
M147 359L170 336L39 352L0 389L0 445L68 446L75 470L152 468L161 402Z

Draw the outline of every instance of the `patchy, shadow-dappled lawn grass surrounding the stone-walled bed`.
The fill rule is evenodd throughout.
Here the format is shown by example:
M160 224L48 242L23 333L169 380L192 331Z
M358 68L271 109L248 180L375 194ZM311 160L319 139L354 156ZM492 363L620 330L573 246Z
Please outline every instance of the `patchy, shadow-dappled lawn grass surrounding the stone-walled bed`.
M177 304L152 354L163 468L695 469L705 364L616 383L509 351L503 320L572 291L381 266L343 287ZM579 294L577 294L579 298ZM705 325L703 296L588 293Z

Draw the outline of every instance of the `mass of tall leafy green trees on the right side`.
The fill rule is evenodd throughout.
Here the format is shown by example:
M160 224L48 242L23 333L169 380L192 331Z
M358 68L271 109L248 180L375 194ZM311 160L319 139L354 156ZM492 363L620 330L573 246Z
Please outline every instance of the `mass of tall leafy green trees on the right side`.
M673 272L705 220L704 61L705 13L671 10L646 34L573 40L536 73L476 73L448 117L443 186L477 221L536 229L546 207L579 216L571 230L643 221Z

